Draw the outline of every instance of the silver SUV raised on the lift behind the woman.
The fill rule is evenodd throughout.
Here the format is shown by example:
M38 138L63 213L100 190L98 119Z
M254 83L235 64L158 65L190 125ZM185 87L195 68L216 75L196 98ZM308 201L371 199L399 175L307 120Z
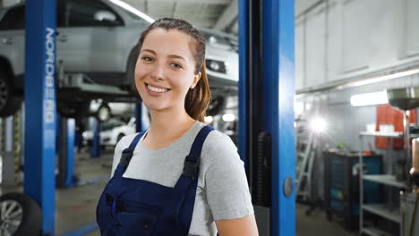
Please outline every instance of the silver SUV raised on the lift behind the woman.
M136 96L133 72L141 31L152 21L120 0L57 0L56 66L83 73L101 85L116 86ZM0 116L14 114L23 97L25 5L0 10ZM207 38L207 72L215 104L236 92L237 41L201 30ZM113 101L120 96L57 90L58 110L65 116L85 114L93 98ZM218 101L221 100L221 101Z

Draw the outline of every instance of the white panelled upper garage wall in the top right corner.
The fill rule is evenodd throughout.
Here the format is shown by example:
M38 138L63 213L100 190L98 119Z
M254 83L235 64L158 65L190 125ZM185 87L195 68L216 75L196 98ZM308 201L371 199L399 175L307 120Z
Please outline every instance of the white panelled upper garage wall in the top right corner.
M385 73L407 63L419 65L418 1L324 0L298 11L297 90Z

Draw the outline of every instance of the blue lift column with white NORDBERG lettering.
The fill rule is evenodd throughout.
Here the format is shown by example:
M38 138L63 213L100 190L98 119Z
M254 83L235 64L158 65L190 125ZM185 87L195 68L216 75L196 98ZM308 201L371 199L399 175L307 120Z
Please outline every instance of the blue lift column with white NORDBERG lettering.
M42 209L42 233L56 213L56 0L26 1L24 192Z

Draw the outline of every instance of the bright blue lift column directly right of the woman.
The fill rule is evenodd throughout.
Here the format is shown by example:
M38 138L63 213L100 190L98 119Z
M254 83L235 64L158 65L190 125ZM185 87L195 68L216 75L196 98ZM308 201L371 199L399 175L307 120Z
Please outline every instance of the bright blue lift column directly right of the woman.
M295 235L294 1L263 0L263 130L272 135L272 235ZM295 189L295 188L294 188Z

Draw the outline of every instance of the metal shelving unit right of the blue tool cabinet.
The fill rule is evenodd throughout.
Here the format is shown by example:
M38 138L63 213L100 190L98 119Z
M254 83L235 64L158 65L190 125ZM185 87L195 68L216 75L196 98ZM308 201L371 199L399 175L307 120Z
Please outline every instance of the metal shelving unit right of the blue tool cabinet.
M360 145L362 146L363 143L363 136L373 136L373 137L382 137L382 138L404 138L403 132L380 132L380 131L362 131L360 132ZM411 136L411 138L413 138ZM363 148L361 147L360 150ZM359 153L359 163L360 166L363 166L363 155L360 151ZM388 219L389 221L392 221L394 223L401 223L401 215L399 209L389 209L389 207L386 207L384 204L363 204L363 181L373 181L377 182L383 185L391 186L394 188L404 188L406 186L404 181L398 181L395 175L392 175L391 173L386 174L363 174L363 172L360 172L360 217L359 217L359 229L360 233L364 233L367 235L372 236L382 236L382 235L390 235L389 233L382 232L380 229L377 229L370 225L364 225L363 222L363 211L372 213L374 215L380 215L381 217ZM401 229L401 227L400 227ZM401 235L401 230L400 230Z

